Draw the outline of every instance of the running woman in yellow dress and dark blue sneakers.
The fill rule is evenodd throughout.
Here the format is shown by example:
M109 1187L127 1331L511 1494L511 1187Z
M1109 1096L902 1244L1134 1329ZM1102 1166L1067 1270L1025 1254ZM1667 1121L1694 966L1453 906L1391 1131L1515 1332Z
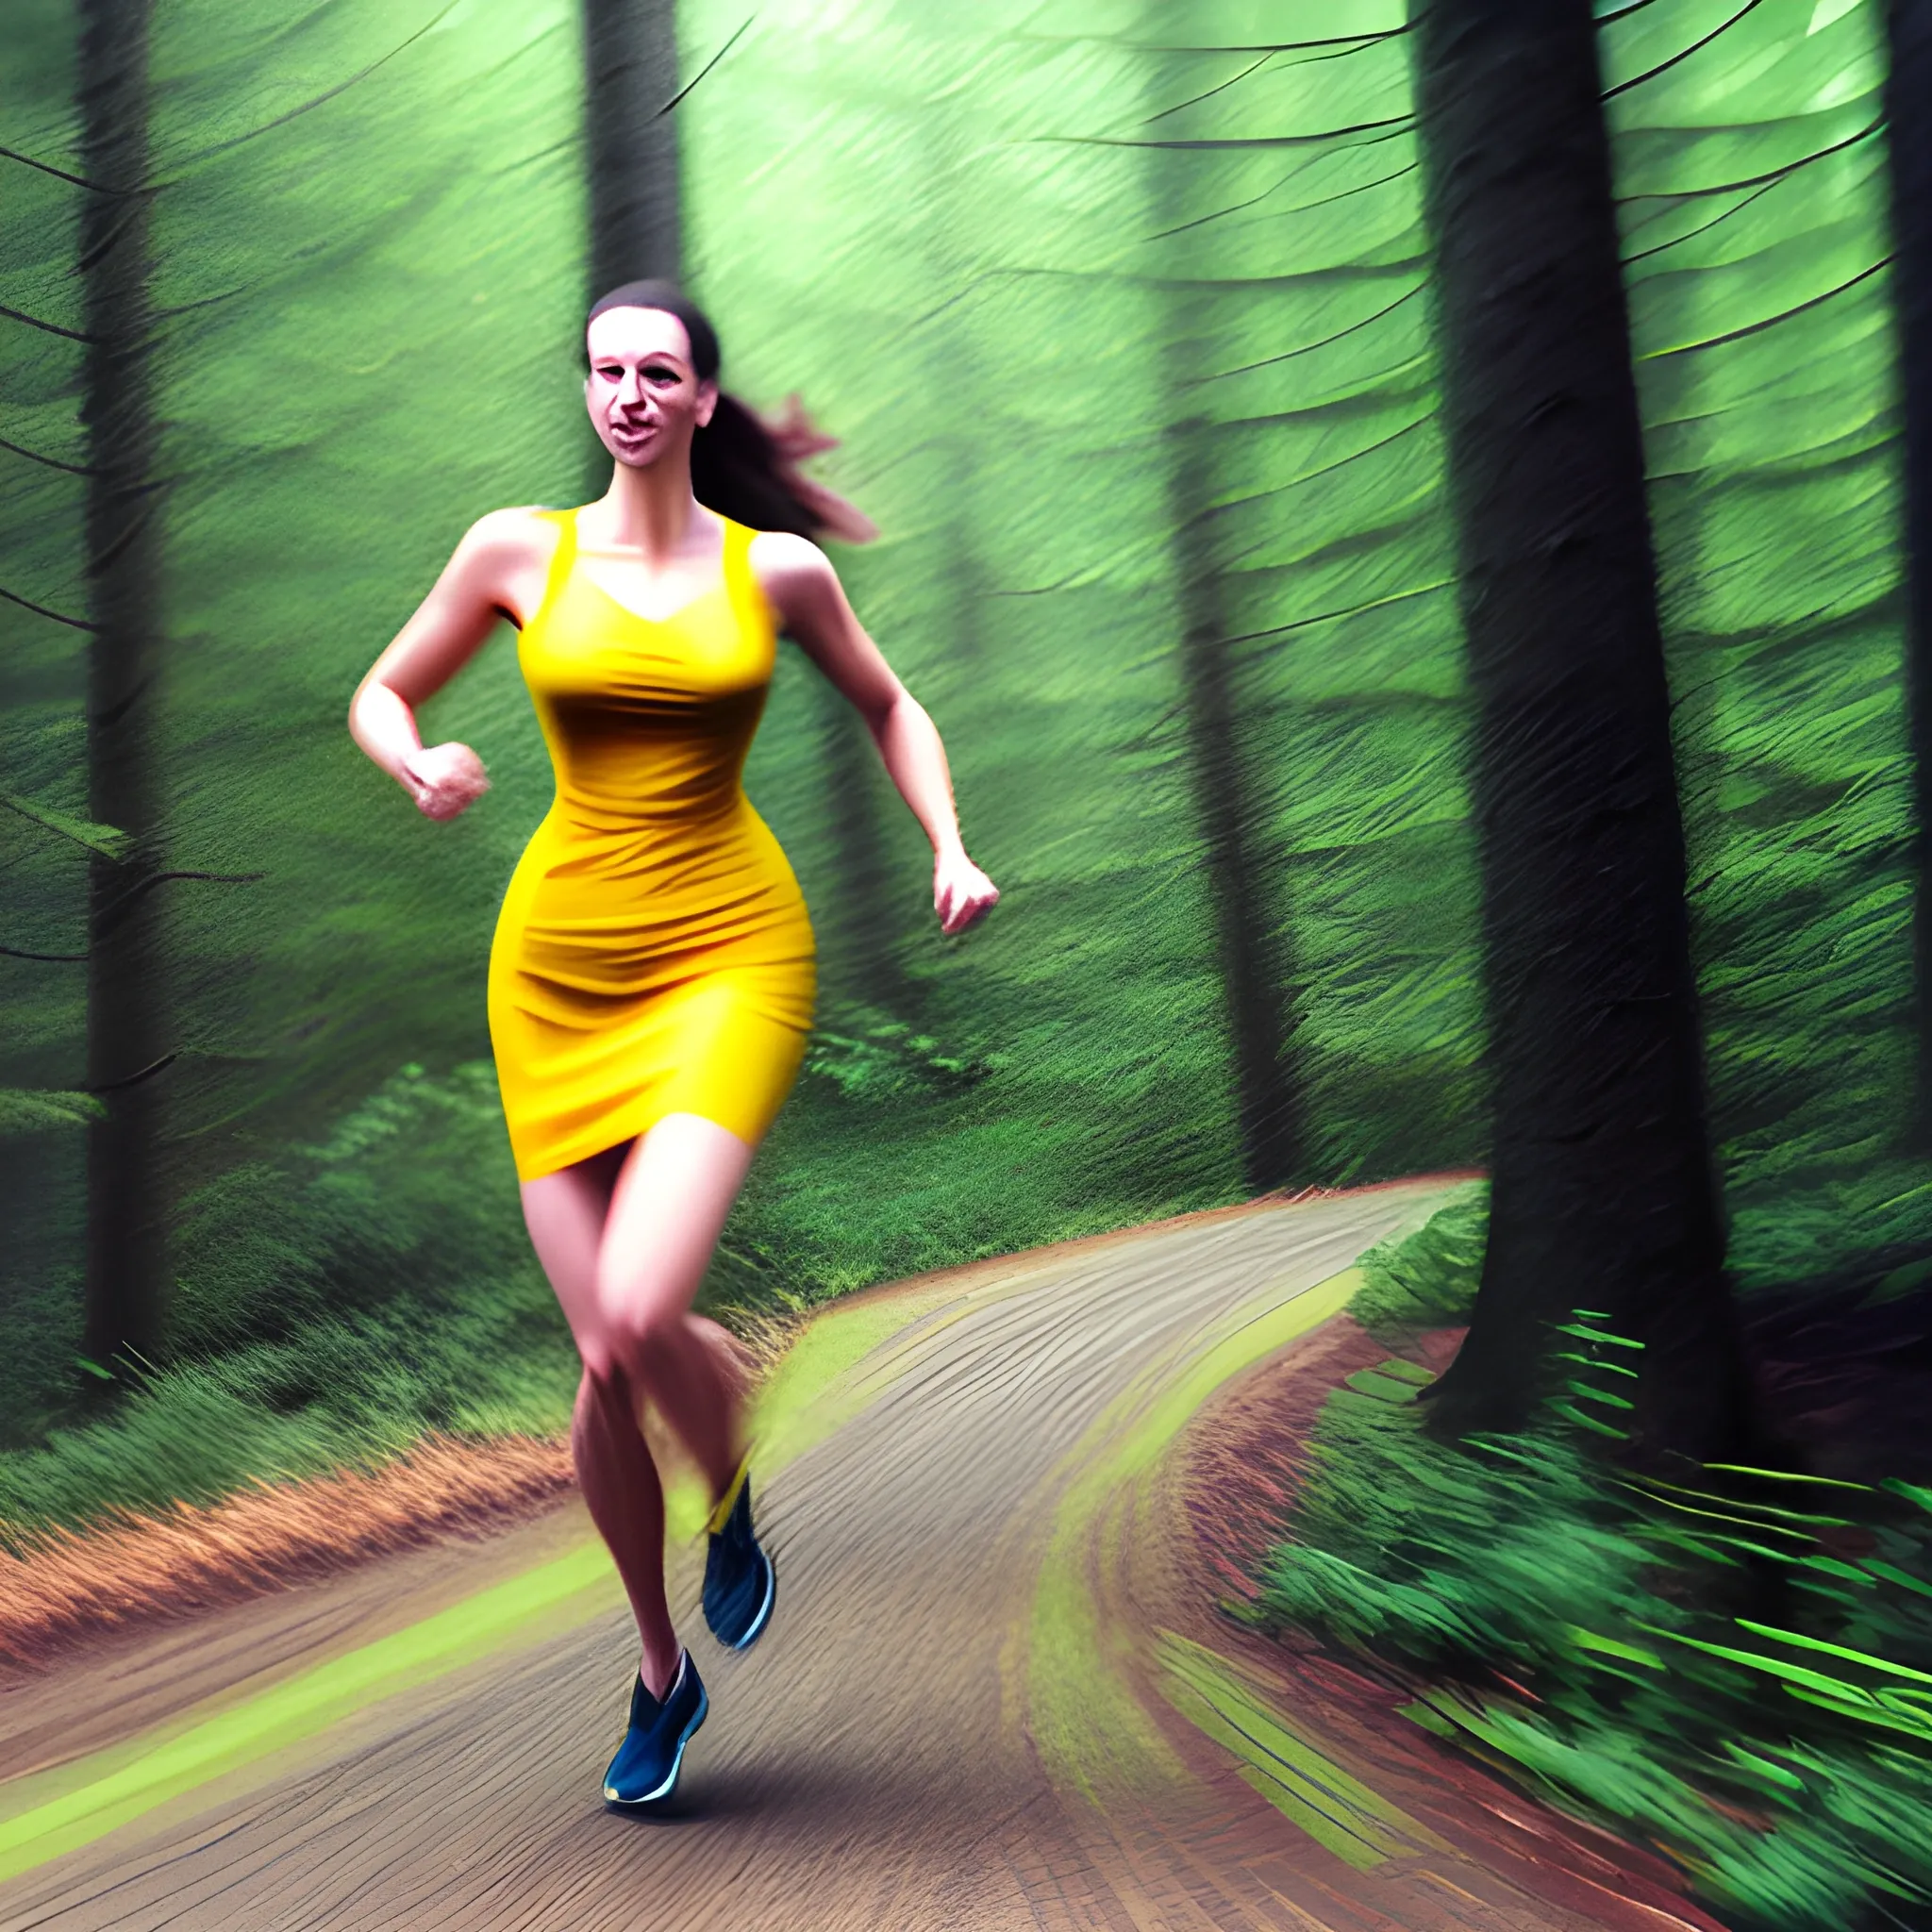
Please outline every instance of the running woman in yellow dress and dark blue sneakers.
M724 1217L798 1072L811 925L742 788L777 632L858 707L933 844L947 933L999 893L960 844L945 748L860 628L811 533L869 535L794 464L827 448L719 392L705 317L663 282L589 313L583 400L614 460L582 510L497 510L350 707L355 742L448 819L487 788L464 744L423 746L415 707L498 618L556 767L556 802L510 879L489 1022L524 1219L583 1379L578 1482L638 1617L630 1729L605 1797L670 1797L707 1698L665 1604L665 1499L643 1403L711 1486L703 1609L744 1648L777 1590L752 1530L738 1356L690 1312Z

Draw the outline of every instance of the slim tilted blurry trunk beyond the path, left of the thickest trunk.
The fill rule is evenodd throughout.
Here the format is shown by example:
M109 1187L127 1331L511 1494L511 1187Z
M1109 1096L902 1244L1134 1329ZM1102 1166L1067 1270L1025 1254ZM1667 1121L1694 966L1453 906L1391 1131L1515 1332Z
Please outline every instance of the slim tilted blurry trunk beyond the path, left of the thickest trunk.
M1167 514L1180 593L1180 682L1194 806L1208 854L1208 893L1240 1117L1242 1179L1256 1194L1300 1169L1300 1107L1289 1070L1285 943L1269 931L1240 699L1213 547L1213 485L1204 421L1167 431Z

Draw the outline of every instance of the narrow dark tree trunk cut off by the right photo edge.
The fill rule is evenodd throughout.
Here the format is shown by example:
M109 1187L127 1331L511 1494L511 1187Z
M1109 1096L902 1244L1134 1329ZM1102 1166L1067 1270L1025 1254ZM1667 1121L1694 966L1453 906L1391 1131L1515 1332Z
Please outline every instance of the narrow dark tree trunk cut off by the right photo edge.
M1932 0L1891 0L1886 120L1905 402L1905 696L1913 761L1913 1119L1932 1146Z

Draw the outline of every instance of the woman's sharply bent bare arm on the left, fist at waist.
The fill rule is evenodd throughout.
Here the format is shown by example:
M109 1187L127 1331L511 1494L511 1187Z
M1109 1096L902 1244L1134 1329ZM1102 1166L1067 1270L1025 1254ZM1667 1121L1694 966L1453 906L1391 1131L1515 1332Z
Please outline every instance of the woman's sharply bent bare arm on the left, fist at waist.
M350 701L350 736L433 819L452 819L489 790L466 744L427 746L415 707L435 697L483 647L498 618L522 622L531 578L547 562L527 510L495 510L464 533L435 587L371 665Z

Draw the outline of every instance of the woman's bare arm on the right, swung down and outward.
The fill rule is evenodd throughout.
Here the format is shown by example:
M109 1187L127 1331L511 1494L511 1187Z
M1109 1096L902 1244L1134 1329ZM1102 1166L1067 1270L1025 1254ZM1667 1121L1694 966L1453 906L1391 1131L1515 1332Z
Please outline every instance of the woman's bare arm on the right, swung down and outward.
M964 931L995 904L999 889L966 856L939 730L866 636L838 572L815 543L765 531L752 543L752 568L781 626L866 721L898 796L931 840L939 925Z

